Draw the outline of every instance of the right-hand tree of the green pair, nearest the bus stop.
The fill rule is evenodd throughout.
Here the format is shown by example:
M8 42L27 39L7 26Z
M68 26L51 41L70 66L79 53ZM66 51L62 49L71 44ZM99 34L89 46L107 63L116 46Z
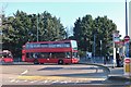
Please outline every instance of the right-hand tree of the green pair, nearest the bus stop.
M97 16L94 20L95 28L97 29L96 35L96 51L97 53L100 53L100 42L103 41L103 50L102 54L106 55L109 53L112 53L112 48L108 47L108 45L112 44L112 32L117 29L117 25L112 23L111 20L107 18L107 16L100 17Z

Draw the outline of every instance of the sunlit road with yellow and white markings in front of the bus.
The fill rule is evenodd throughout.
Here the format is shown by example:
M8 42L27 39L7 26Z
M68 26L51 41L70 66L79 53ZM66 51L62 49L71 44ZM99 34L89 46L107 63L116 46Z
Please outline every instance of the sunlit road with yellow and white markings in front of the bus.
M0 65L3 85L92 84L106 79L94 65Z

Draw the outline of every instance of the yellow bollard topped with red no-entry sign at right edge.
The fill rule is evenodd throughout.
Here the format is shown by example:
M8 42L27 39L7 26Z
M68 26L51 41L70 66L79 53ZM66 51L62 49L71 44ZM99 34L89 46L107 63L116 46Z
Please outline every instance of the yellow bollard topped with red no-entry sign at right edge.
M131 77L131 59L124 59L124 76L130 78Z

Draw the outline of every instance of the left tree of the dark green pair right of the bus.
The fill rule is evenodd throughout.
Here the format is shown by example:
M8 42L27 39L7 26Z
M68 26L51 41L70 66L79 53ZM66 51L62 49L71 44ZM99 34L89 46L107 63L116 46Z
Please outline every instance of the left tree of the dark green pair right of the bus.
M85 15L82 20L79 17L74 23L73 35L78 40L79 47L84 51L92 51L93 18L92 15Z

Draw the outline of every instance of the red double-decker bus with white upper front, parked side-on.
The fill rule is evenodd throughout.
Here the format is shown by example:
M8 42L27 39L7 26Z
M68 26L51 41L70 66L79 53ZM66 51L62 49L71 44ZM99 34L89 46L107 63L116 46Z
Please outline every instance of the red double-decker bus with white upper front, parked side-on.
M22 60L34 64L78 63L78 45L75 40L26 42L22 50Z

